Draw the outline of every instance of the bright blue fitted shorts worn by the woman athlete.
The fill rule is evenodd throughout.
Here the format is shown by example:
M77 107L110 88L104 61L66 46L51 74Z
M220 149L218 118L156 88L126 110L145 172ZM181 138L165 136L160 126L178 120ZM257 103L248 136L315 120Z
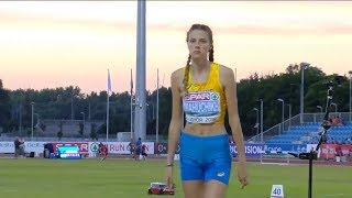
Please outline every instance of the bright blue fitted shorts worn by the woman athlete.
M180 178L185 180L219 180L229 184L231 153L228 134L197 136L180 134Z

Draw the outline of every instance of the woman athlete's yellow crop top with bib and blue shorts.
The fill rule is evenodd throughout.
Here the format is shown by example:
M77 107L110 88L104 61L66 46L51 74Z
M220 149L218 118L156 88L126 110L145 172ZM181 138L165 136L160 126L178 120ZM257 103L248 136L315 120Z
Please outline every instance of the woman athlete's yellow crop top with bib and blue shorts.
M204 84L195 84L188 74L187 94L183 97L188 123L224 123L227 99L219 67L219 64L211 63L209 77ZM182 132L179 162L184 182L216 179L228 185L231 170L228 134L198 136Z

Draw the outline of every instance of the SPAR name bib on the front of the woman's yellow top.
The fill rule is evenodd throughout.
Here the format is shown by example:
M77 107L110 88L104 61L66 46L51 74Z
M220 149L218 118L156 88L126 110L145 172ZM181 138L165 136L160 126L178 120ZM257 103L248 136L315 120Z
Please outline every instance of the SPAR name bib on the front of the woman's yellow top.
M220 116L220 95L212 91L189 92L184 97L186 120L190 123L211 123Z

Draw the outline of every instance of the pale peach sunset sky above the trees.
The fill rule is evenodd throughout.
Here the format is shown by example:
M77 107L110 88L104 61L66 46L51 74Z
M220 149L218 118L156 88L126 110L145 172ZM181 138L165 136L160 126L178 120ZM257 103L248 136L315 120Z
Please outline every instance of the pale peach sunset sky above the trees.
M136 69L136 1L0 1L3 87L130 89ZM188 56L194 23L213 32L215 61L237 70L285 73L307 62L327 75L352 70L352 1L146 1L146 89L169 87ZM134 86L135 87L135 86Z

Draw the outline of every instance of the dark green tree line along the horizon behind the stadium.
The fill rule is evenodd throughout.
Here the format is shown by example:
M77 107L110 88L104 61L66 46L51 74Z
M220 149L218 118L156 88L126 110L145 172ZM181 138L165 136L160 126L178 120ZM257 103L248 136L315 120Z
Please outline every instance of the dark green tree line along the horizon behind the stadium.
M249 78L241 79L237 85L239 113L242 130L245 136L252 136L256 132L256 112L260 109L258 100L264 103L264 124L268 129L282 121L283 99L292 107L292 116L300 112L300 85L301 65L290 64L285 73L262 75L254 73ZM320 68L309 66L304 72L304 109L305 112L318 112L317 106L323 107L327 98L327 82L331 81L338 74L326 75ZM333 102L338 105L339 111L349 111L350 87L349 78L342 77L344 82L336 89ZM146 133L155 134L156 130L156 90L145 91L146 95ZM160 114L158 129L161 135L167 135L168 124L172 116L170 88L161 87L160 90ZM120 131L130 131L131 123L131 94L112 92L110 96L109 131L116 134ZM33 102L33 103L32 103ZM32 105L40 119L55 120L106 120L107 91L81 92L79 87L58 87L52 89L18 89L9 90L0 79L0 132L31 130ZM286 107L288 109L288 107ZM288 111L285 110L285 119ZM133 117L134 118L134 117ZM228 132L231 133L228 121ZM98 129L98 133L106 133L106 124Z

